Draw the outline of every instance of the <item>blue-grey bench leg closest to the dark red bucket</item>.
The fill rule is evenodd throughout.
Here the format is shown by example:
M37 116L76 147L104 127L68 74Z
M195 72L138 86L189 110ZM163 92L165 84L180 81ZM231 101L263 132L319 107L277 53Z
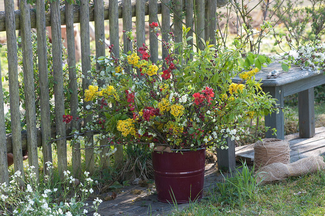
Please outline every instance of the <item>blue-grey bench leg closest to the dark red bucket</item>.
M228 149L216 149L218 169L233 171L236 168L235 141L231 141L229 137L226 140Z

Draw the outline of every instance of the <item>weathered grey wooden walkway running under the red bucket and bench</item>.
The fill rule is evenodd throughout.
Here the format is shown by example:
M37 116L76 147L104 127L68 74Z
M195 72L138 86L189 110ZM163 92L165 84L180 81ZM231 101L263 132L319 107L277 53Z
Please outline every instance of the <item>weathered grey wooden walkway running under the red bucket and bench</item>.
M301 138L299 133L294 133L285 136L291 148L291 161L309 157L312 155L325 155L325 127L316 128L316 135L312 138ZM236 147L236 158L246 159L247 162L253 162L254 150L253 144L247 146ZM204 178L204 194L209 188L213 188L216 182L222 181L223 176L219 174L214 164L209 164L205 169ZM143 193L134 195L132 191L141 190ZM152 188L151 188L152 189ZM151 192L154 192L153 189ZM168 215L175 210L173 204L162 203L157 200L156 195L150 195L147 188L132 185L121 189L113 200L111 199L112 192L98 195L103 202L99 205L99 214L101 216L112 215L128 215L128 216L157 216ZM108 200L108 201L105 201ZM92 201L89 200L89 205ZM178 205L178 210L183 209L188 204ZM89 211L87 215L93 215L93 211Z

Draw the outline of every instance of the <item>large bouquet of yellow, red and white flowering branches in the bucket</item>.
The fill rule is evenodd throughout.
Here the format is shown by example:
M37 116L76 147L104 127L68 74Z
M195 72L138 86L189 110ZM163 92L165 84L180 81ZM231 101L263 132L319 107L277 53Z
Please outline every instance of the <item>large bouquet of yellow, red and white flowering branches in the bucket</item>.
M150 27L159 40L157 24ZM247 117L278 110L254 79L258 69L241 72L247 42L234 41L231 49L222 50L217 37L216 45L206 42L204 50L193 51L187 43L189 30L183 29L181 43L175 43L169 32L169 40L162 41L168 52L162 61L150 61L146 44L134 45L133 52L120 56L111 45L111 57L98 58L102 69L92 78L103 85L90 85L85 91L84 100L94 103L85 114L94 115L92 128L110 145L160 151L227 148L225 138L250 135L245 130L250 127ZM126 34L135 44L132 32ZM238 74L243 82L232 83Z

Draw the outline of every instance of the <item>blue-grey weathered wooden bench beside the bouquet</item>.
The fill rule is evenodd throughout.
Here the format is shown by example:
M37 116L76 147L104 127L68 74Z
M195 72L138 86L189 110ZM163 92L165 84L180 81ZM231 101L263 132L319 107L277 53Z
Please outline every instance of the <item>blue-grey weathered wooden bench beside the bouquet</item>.
M266 75L273 70L279 70L279 76L267 79ZM285 96L298 93L299 136L313 137L315 135L314 87L325 83L325 75L301 70L299 67L291 67L288 72L284 72L280 64L272 63L255 75L255 80L260 79L262 79L263 91L269 92L273 98L277 99L279 107L284 107ZM233 83L240 81L239 77L232 79ZM272 113L265 116L265 125L277 129L276 135L272 135L271 131L266 132L266 138L284 139L284 115L281 110L278 114ZM233 170L236 166L235 144L230 139L227 143L229 147L227 150L217 150L218 167Z

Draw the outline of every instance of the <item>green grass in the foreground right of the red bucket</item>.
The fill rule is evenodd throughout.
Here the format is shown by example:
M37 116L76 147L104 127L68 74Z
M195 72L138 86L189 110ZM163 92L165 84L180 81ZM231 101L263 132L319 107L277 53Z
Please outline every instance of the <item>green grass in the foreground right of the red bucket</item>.
M211 189L211 195L190 203L177 216L199 215L324 215L325 171L297 176L276 184L258 185L252 170L243 171ZM226 188L220 189L220 185Z

